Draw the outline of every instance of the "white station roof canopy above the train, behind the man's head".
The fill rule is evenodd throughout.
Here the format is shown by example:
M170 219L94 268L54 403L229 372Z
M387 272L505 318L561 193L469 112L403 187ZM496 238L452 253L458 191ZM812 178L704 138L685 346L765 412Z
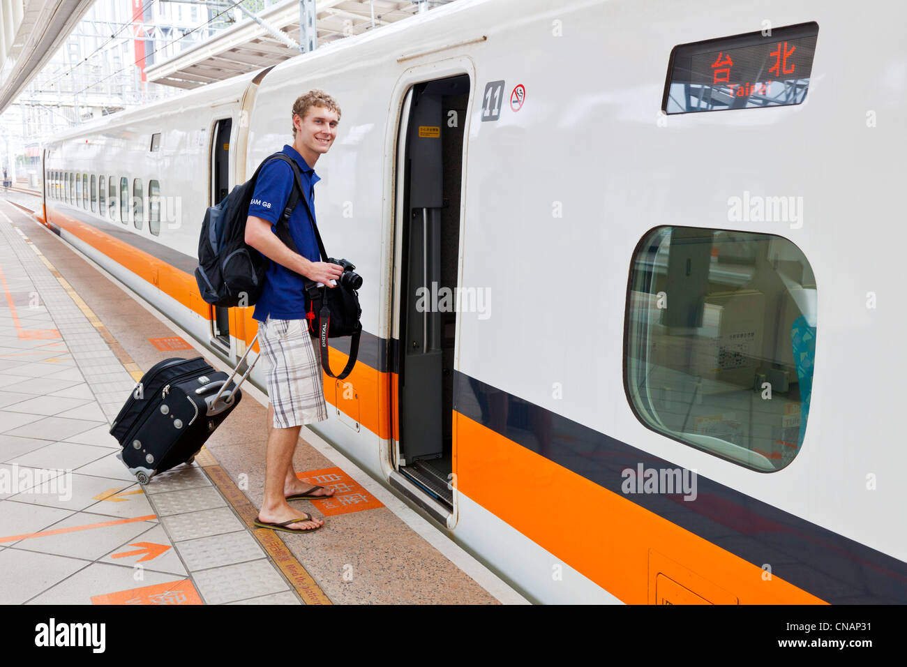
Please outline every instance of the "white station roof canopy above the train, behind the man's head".
M3 0L0 0L2 2ZM434 5L444 0L434 0ZM317 44L388 25L419 11L419 2L398 0L318 0ZM254 72L298 55L286 37L300 44L299 0L287 0L258 14L266 25L246 18L213 39L193 46L158 64L145 68L148 80L180 88L198 88L205 83ZM270 28L270 29L268 29ZM275 35L277 30L282 35Z

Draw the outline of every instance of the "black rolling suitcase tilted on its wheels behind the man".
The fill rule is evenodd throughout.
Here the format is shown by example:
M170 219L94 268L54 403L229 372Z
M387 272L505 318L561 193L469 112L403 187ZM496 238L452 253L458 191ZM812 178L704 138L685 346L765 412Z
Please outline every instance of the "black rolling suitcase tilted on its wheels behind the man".
M239 387L258 358L239 384L232 380L252 344L229 377L201 357L164 359L142 376L110 431L122 446L117 458L141 484L173 466L191 463L220 422L237 407L242 398Z

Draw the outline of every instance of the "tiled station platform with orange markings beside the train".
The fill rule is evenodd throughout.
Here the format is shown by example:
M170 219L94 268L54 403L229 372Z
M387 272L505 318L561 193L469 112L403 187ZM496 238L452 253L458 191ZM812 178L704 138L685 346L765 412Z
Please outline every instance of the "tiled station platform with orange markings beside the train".
M0 197L0 603L526 603L306 428L298 476L336 495L294 505L325 525L255 528L267 397L248 384L193 464L138 484L108 430L143 371L198 356L227 368L9 200Z

